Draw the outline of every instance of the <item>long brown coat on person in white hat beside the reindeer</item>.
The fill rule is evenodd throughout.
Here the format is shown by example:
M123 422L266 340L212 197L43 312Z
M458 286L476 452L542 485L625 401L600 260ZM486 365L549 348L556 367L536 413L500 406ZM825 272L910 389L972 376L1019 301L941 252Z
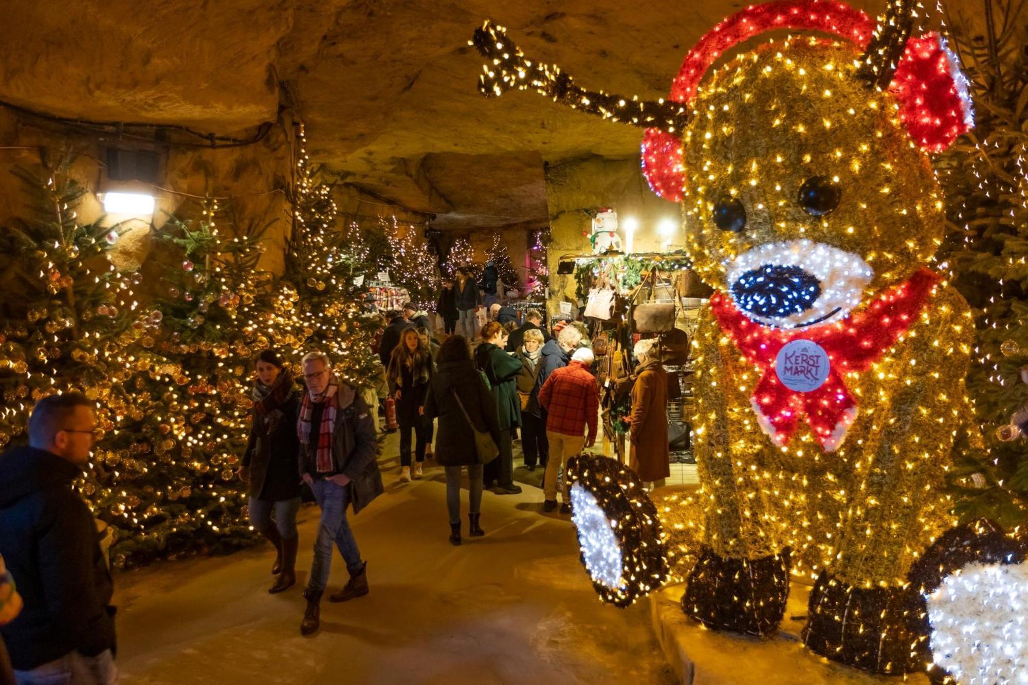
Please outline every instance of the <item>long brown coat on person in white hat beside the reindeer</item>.
M640 480L660 480L671 475L667 448L667 372L660 362L638 368L632 386L631 452L628 466Z

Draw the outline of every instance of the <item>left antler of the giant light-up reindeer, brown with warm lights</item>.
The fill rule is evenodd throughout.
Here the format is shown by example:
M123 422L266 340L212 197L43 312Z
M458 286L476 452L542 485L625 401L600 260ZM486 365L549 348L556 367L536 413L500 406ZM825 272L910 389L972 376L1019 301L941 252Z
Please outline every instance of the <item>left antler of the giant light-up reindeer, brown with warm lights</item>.
M475 31L469 44L489 60L482 67L484 73L478 77L478 89L487 98L515 88L535 88L555 102L598 114L604 119L668 133L681 131L689 120L688 109L680 103L663 99L657 102L639 100L637 96L629 99L579 87L559 67L525 59L521 48L507 37L507 30L489 20Z

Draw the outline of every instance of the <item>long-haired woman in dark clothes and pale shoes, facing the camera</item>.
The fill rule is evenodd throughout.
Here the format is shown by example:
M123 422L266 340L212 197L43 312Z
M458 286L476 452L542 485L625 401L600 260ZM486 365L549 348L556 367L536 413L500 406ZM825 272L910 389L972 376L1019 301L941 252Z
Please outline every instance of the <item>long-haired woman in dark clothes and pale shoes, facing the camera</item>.
M396 399L396 421L400 424L400 481L410 482L410 433L414 432L414 477L424 475L425 449L432 439L425 420L425 393L434 371L432 352L417 331L407 328L393 350L386 378Z

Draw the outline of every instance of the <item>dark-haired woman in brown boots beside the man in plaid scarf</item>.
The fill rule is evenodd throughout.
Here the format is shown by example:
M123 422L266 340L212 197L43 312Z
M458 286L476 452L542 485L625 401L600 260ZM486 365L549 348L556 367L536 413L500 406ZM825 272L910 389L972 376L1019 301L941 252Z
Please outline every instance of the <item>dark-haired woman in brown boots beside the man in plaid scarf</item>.
M300 508L296 416L300 389L273 350L257 357L252 397L250 443L243 455L240 477L250 494L250 525L274 545L271 573L279 577L267 590L274 593L296 583L296 512Z

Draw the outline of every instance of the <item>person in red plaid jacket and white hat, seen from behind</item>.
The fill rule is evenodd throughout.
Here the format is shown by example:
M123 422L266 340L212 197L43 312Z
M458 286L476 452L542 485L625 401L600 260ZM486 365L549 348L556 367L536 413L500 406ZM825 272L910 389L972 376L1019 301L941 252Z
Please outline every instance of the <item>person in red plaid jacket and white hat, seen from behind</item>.
M564 461L591 447L596 442L596 416L599 410L599 388L589 371L594 357L592 350L582 348L567 366L550 374L539 391L539 403L546 409L546 437L550 441L550 460L543 477L543 511L557 508L557 473L564 471L560 489L563 504L560 513L571 513L571 495ZM586 427L589 429L585 436Z

